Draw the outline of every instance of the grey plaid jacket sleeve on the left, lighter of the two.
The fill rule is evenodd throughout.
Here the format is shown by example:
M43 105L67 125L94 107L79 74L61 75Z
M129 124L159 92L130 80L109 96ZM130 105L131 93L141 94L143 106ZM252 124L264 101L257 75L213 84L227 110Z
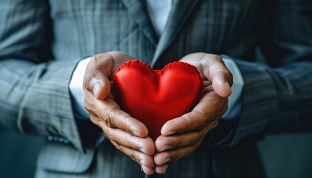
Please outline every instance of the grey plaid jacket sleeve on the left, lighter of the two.
M77 61L53 61L46 1L0 1L0 127L68 139L82 150L69 81Z

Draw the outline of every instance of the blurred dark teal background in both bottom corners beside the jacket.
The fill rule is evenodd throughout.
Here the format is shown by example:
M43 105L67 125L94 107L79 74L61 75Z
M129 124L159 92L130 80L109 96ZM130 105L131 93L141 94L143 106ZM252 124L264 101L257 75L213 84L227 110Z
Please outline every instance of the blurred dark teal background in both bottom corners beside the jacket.
M33 177L45 139L0 131L0 177ZM269 178L312 177L312 133L266 135L258 142Z

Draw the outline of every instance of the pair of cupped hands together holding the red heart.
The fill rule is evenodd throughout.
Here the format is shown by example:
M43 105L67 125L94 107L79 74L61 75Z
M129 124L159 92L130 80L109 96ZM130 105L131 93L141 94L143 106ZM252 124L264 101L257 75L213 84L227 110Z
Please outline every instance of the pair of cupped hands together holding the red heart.
M115 72L129 60L131 56L117 51L92 57L84 75L84 107L112 144L138 162L146 174L164 173L169 164L196 150L218 125L228 108L233 77L218 55L183 57L180 61L196 66L201 73L203 97L191 112L166 122L153 142L146 126L121 110L110 90Z

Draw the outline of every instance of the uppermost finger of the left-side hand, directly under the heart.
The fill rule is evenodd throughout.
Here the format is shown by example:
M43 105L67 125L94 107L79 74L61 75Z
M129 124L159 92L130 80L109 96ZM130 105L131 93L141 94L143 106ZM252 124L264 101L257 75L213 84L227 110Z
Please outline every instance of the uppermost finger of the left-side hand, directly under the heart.
M102 101L97 100L88 91L86 91L85 97L84 107L90 113L95 113L107 127L119 128L138 137L146 137L148 135L146 126L131 117L127 112L121 110L114 100L110 98Z

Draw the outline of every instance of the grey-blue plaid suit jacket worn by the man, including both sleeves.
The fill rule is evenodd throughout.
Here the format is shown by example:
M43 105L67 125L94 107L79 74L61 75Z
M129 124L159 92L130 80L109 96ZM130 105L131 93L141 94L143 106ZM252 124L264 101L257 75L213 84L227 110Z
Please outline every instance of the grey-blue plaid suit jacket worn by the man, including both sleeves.
M0 1L0 127L60 141L41 152L38 177L144 177L108 140L89 144L93 126L75 119L68 84L79 59L119 50L159 69L192 52L226 54L245 83L239 125L221 121L158 176L263 177L254 141L312 125L311 4L175 0L158 39L144 1Z

